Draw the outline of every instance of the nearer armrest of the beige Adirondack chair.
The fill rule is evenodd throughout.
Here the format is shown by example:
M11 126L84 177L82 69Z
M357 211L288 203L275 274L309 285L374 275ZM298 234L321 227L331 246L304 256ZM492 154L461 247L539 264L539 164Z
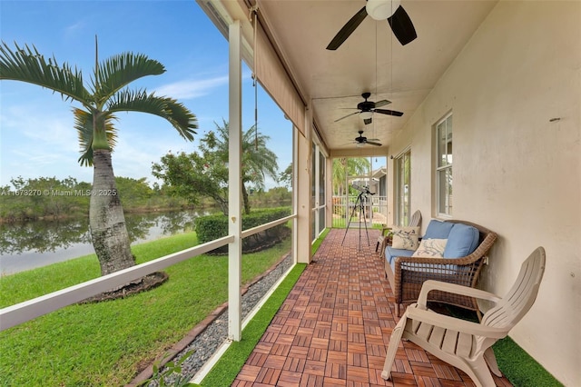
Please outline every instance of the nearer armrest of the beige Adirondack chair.
M502 339L507 336L506 328L495 328L481 323L472 323L467 320L461 320L456 317L439 314L433 311L421 309L418 304L412 304L406 310L404 317L414 320L415 322L428 323L438 326L442 329L451 329L457 332L474 334L494 339Z

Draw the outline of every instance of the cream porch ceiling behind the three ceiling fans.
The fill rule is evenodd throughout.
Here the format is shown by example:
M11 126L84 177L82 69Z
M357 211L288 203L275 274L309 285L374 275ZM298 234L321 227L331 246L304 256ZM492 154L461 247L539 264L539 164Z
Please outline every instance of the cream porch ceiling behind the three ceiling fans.
M278 45L287 70L295 78L300 94L312 99L315 122L322 141L333 154L357 150L387 154L392 136L414 114L438 79L467 44L497 0L403 0L418 38L402 46L387 21L369 15L337 49L325 47L340 28L355 15L364 0L245 0L258 3L271 38ZM364 125L355 112L371 93L370 101L387 99L382 108L403 112L395 117L373 114ZM379 139L380 148L357 148L351 141L360 129ZM363 151L362 151L363 150Z

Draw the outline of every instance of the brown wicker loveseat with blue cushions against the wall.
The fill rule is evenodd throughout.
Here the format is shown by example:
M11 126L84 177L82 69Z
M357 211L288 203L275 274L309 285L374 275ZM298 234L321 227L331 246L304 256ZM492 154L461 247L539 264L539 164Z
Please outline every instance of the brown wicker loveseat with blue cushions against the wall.
M395 306L398 316L400 315L400 304L415 303L418 301L421 285L427 280L458 283L472 288L476 287L478 275L486 260L486 254L492 244L497 240L497 233L493 233L487 228L475 223L459 220L449 220L446 222L433 220L429 223L424 238L435 227L439 227L440 229L438 230L438 233L440 233L438 238L447 236L448 233L451 233L451 229L456 223L471 226L478 230L478 243L474 243L476 248L466 256L456 258L411 256L414 251L393 249L390 246L386 247L385 272L395 295ZM465 226L461 227L466 228ZM474 231L474 229L472 230ZM481 318L478 303L476 299L471 297L434 291L429 293L428 301L448 303L466 308L478 313L478 318Z

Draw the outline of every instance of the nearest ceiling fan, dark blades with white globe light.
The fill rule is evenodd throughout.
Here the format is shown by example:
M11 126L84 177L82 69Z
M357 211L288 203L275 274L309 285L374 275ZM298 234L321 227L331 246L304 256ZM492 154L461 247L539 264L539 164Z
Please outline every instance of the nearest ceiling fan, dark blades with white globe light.
M418 37L408 13L401 5L399 0L367 0L367 5L359 9L357 14L350 18L347 24L343 25L339 33L327 46L328 50L337 50L340 45L355 31L367 15L374 20L388 20L391 31L401 45L407 45ZM393 10L395 9L395 12Z

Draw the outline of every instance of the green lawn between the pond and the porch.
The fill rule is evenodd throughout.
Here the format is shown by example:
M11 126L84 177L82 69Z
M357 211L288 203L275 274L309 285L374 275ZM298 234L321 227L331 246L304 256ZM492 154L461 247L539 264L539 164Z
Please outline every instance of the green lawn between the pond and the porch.
M138 263L197 243L184 233L133 247ZM244 254L248 283L290 251L291 238ZM227 256L201 255L168 269L147 293L106 303L71 305L0 332L2 385L119 386L153 362L227 301ZM94 255L0 279L0 306L20 303L99 276Z

